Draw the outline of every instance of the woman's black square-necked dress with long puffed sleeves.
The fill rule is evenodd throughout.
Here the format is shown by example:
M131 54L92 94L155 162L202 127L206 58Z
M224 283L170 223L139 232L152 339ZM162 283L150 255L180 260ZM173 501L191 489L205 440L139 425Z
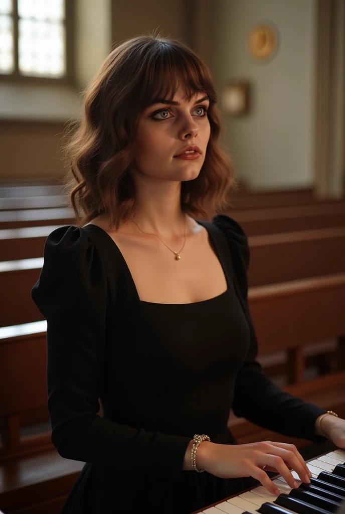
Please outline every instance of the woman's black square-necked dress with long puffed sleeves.
M46 239L31 295L47 319L51 440L86 463L62 514L189 514L259 485L182 470L195 433L237 444L231 408L282 434L327 440L314 434L326 411L281 391L255 360L245 233L224 214L198 223L227 290L187 304L139 300L122 253L96 225L63 226Z

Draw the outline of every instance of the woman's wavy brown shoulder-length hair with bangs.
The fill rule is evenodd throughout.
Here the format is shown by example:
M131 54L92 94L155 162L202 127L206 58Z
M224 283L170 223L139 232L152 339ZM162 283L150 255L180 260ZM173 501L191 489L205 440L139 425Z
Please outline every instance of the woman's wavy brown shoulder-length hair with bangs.
M239 186L233 161L219 146L223 126L209 69L180 41L138 35L110 52L81 93L82 118L67 126L69 140L62 151L69 172L63 189L75 212L76 226L108 215L110 228L118 230L135 217L135 183L128 171L137 122L152 98L172 100L179 85L188 101L199 92L208 95L210 123L200 173L194 180L181 182L181 210L208 221L228 210L230 193Z

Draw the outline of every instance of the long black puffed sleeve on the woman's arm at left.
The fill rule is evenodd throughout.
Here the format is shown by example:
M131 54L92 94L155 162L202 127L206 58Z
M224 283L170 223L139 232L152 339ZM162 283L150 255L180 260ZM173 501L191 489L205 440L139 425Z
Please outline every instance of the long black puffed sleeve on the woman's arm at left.
M59 454L119 470L178 476L189 437L149 432L97 414L108 284L101 255L85 230L69 225L49 234L31 297L47 320L48 410Z

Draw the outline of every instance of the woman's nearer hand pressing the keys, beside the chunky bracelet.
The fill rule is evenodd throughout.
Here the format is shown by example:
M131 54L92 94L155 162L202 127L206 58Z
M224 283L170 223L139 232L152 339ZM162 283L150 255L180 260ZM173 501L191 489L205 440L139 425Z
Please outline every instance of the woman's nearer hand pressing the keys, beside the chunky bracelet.
M273 494L279 494L279 491L263 467L266 471L280 473L293 489L296 486L291 469L297 472L302 482L310 483L309 478L312 476L295 445L273 441L245 445L222 445L205 441L197 448L196 465L224 479L252 476Z

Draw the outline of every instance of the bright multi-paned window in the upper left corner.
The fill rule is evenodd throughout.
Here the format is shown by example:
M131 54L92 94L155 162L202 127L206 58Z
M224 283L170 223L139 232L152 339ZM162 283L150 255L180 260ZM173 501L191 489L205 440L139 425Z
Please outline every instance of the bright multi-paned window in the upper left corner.
M0 80L71 83L70 16L71 0L0 0Z

